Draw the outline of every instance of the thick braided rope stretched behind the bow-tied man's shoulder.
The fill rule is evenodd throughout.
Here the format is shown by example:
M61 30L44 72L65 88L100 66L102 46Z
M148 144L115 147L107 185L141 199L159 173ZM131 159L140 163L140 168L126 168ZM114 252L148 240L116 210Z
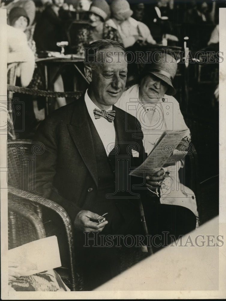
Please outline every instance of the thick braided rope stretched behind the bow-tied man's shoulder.
M44 90L36 90L31 88L18 87L13 85L7 85L7 90L11 92L29 94L34 96L45 96L45 97L76 97L79 98L83 91L75 91L75 92L53 92L53 91L44 91Z

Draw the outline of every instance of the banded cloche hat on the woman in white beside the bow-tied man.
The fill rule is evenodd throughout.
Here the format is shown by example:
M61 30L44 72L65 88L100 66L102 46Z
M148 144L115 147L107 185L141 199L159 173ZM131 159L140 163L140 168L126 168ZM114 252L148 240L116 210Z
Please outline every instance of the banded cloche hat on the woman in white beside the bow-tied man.
M154 59L154 61L146 64L141 76L144 77L148 73L155 75L156 77L167 83L167 95L176 94L176 90L173 87L172 83L177 70L176 60L170 54L159 52L156 52L155 55L152 56L152 58Z

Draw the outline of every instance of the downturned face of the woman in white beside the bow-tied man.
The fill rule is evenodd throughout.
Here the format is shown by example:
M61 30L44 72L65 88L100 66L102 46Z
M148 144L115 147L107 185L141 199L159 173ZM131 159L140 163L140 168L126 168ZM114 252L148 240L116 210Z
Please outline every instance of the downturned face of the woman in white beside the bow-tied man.
M157 97L159 100L163 98L168 85L153 74L147 74L140 81L140 95Z

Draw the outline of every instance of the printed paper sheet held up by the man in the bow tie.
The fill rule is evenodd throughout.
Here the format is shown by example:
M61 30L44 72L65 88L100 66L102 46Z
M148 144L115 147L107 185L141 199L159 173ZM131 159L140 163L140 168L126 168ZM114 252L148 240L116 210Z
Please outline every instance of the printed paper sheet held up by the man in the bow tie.
M156 169L172 164L170 156L173 151L185 136L187 130L168 131L163 132L160 138L157 138L155 148L150 152L146 160L137 168L135 168L130 175L143 177L145 172L155 171ZM178 155L183 154L179 152Z

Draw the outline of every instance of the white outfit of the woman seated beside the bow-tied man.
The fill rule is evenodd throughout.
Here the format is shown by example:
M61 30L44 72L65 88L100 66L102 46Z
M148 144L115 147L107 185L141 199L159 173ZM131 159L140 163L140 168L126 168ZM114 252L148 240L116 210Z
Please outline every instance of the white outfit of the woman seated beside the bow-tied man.
M188 142L191 140L190 130L185 124L179 103L173 96L164 95L164 98L153 104L155 111L150 110L150 105L145 107L140 103L139 85L137 84L126 90L115 106L139 120L144 135L143 144L147 154L153 150L156 141L164 131L185 130L184 139ZM177 161L175 166L164 168L169 176L164 178L161 185L160 202L162 204L187 207L197 217L198 225L198 212L194 192L179 181L178 171L181 167L183 167L183 162Z

